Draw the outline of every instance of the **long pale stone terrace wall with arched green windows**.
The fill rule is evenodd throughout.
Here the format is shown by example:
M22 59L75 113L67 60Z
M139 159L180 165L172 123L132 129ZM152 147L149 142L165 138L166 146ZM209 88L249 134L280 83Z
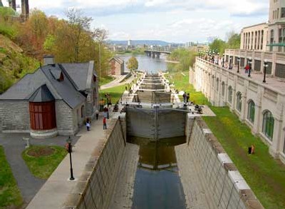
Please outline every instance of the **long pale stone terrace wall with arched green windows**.
M258 76L249 78L202 58L190 68L195 89L213 106L229 106L269 146L271 156L285 163L285 84L264 84Z

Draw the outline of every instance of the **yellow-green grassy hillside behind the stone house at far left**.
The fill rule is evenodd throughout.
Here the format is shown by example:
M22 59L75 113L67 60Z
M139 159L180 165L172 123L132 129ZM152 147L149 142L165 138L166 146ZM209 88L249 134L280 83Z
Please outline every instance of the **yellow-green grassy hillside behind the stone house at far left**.
M38 66L36 59L26 56L21 47L0 34L0 93Z

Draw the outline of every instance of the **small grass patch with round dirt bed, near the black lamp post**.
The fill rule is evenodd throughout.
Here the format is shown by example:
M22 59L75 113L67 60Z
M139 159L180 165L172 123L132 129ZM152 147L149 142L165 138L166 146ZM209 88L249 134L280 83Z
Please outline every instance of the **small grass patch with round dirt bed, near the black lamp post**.
M66 149L59 146L31 146L22 153L31 173L47 179L66 156Z

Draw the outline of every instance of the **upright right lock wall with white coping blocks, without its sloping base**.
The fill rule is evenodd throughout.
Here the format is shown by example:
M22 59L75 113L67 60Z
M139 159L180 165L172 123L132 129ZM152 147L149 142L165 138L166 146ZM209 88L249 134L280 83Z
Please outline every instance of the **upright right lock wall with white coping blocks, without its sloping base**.
M209 208L263 208L202 118L189 116L186 133L191 155L183 160L197 165Z

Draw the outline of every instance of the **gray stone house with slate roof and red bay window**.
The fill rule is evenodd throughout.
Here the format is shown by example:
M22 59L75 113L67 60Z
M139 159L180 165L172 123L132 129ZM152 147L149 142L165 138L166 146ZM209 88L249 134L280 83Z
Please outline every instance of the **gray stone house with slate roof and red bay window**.
M34 138L73 135L98 107L94 61L54 63L27 74L0 95L0 130Z

